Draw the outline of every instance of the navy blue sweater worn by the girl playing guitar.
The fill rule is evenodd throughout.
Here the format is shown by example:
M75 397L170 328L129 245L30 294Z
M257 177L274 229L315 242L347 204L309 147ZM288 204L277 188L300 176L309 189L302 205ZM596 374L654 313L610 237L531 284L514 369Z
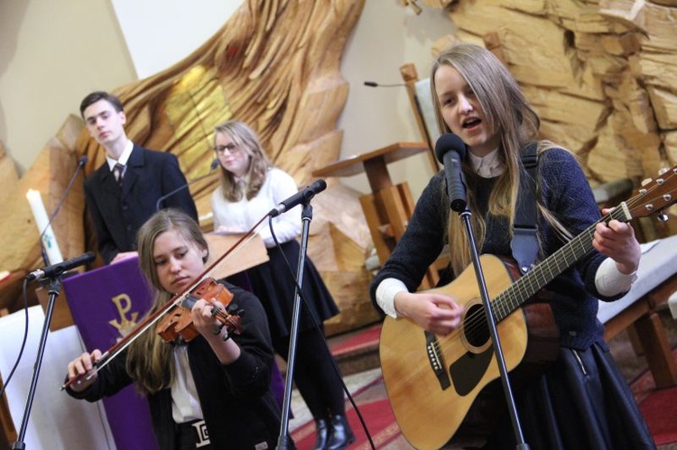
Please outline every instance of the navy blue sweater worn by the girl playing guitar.
M598 221L599 209L588 179L569 152L555 148L541 153L538 171L543 204L557 216L570 234L576 236ZM481 211L471 213L484 214L487 220L487 234L480 253L512 257L507 218L485 213L488 194L496 179L474 177L472 180L476 184L474 188ZM470 184L468 177L468 187L473 188ZM423 190L406 232L371 284L371 298L377 309L380 310L376 304L376 287L382 280L402 280L410 292L421 284L426 269L437 259L447 243L445 234L449 205L444 187L444 172L441 171ZM543 218L538 220L538 234L542 244L540 260L564 244ZM598 298L609 301L622 297L622 294L605 298L598 293L595 274L604 259L605 255L593 250L544 288L553 293L550 303L555 322L560 328L562 346L583 350L598 343L607 348L603 337L604 327L597 319ZM447 284L452 279L453 275L450 274L442 276L440 285Z

